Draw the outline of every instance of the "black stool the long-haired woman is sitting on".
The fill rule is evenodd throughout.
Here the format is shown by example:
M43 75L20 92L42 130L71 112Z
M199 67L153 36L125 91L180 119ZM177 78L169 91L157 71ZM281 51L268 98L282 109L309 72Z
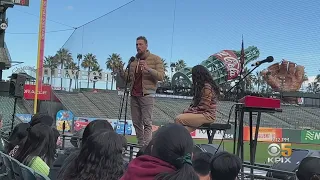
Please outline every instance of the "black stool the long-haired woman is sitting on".
M202 124L197 129L206 130L208 135L208 143L212 144L213 137L216 134L217 130L226 131L227 129L231 129L231 124L218 124L218 123L205 123Z

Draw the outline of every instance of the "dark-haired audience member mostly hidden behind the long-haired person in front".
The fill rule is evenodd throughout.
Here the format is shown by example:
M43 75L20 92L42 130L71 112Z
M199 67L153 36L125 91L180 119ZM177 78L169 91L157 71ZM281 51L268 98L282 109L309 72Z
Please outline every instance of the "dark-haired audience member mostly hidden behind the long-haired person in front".
M114 131L111 124L106 121L106 120L95 120L91 121L86 128L84 129L82 133L81 138L81 146L82 144L85 144L89 136L94 134L97 131ZM65 170L67 167L70 165L70 163L79 155L80 149L78 148L72 148L69 150L72 153L66 153L66 154L61 154L58 156L57 160L53 163L53 166L51 167L50 170L50 175L49 177L51 179L56 179L56 177L62 178Z

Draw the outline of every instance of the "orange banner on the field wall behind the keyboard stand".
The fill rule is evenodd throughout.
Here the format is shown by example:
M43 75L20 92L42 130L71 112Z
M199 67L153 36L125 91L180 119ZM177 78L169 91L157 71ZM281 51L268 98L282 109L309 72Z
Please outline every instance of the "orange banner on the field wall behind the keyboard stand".
M252 138L254 139L256 128L252 128ZM243 140L250 141L250 128L245 126L243 129ZM258 141L263 142L278 142L282 139L282 129L280 128L259 128Z

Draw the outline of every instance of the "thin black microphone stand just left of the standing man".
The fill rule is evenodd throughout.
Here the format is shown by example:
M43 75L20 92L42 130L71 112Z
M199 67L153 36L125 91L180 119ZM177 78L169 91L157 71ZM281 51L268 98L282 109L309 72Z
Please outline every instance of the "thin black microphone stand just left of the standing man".
M124 92L123 92L123 96L122 96L122 100L120 102L120 109L119 109L119 122L121 121L121 116L122 116L122 110L123 110L123 103L124 101L126 101L126 105L125 105L125 114L124 114L124 127L123 127L123 135L126 135L126 125L127 125L127 112L128 112L128 98L129 98L129 90L128 90L128 82L130 80L130 64L131 61L129 61L128 66L125 70L125 72L128 72L127 78L126 78L126 83L124 86ZM126 100L125 100L126 98Z

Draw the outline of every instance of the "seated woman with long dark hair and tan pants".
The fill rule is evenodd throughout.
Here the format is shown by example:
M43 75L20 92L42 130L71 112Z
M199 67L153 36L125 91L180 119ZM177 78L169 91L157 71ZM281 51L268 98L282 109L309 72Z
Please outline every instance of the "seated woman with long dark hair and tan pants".
M216 119L216 104L220 89L209 71L201 65L192 68L193 100L189 108L178 115L175 122L185 126L189 132Z

